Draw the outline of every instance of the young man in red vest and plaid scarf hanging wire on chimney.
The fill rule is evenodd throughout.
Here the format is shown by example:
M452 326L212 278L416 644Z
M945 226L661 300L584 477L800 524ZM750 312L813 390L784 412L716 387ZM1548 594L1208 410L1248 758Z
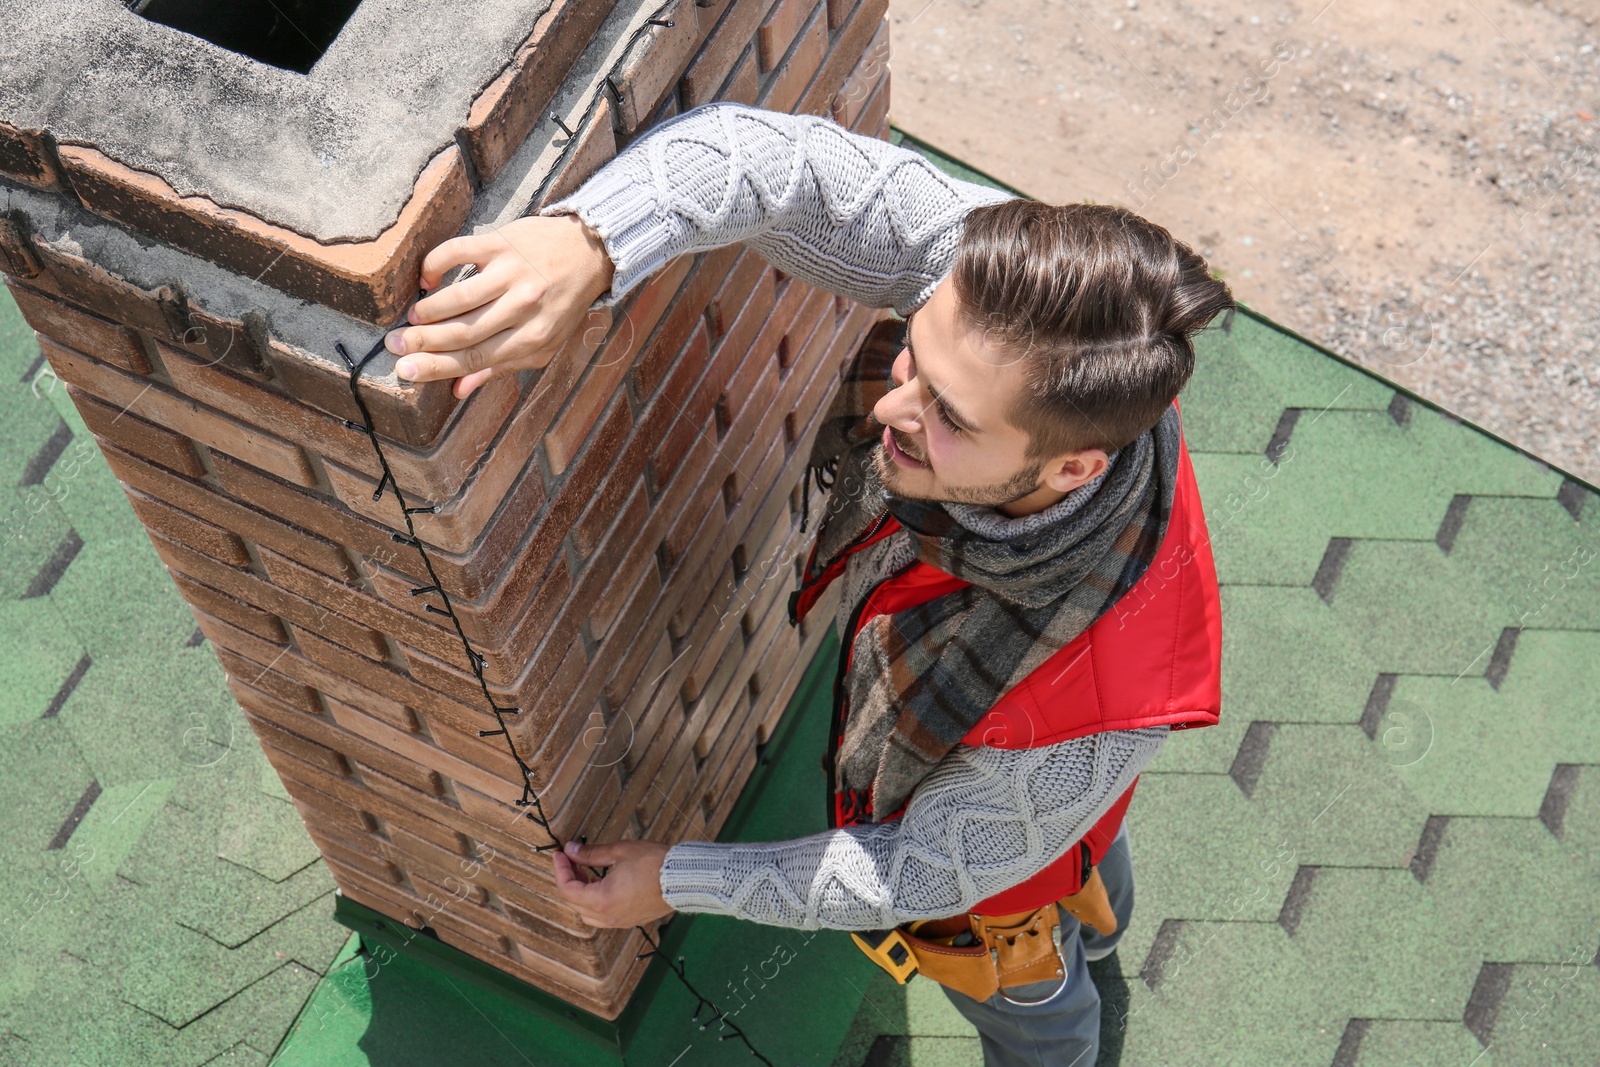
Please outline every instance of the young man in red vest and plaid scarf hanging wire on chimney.
M1123 811L1168 729L1218 720L1216 574L1173 403L1226 285L1128 211L1050 206L803 115L710 104L544 218L454 238L390 334L400 374L542 366L598 301L744 242L907 317L862 349L811 461L834 491L798 619L834 581L835 829L557 854L597 926L670 910L861 931L915 961L986 1064L1094 1062L1085 968L1133 909ZM592 878L587 867L605 867Z

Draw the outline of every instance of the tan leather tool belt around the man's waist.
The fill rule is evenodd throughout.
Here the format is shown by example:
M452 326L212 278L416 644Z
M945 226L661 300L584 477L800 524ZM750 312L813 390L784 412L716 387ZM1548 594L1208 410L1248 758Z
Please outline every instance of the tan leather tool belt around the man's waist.
M989 1000L998 992L1014 1005L1034 1005L1061 992L1067 981L1067 966L1061 955L1059 904L1080 923L1101 934L1117 931L1117 915L1110 910L1106 883L1099 869L1090 864L1088 846L1083 846L1083 888L1059 902L1045 904L1032 912L1011 915L955 915L933 918L894 929L854 931L851 939L882 966L894 981L904 985L914 974L925 974L973 1000ZM1005 990L1029 982L1059 984L1048 997L1016 1000Z

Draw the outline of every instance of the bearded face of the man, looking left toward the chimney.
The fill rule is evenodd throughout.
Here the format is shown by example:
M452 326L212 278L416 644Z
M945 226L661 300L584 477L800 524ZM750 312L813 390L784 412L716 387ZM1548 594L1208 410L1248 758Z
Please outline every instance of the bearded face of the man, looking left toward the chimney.
M1043 510L1104 470L1106 453L1026 459L1027 434L1006 419L1022 389L1019 357L957 312L946 278L907 320L896 387L872 410L885 427L878 477L902 498L987 504L1010 515Z

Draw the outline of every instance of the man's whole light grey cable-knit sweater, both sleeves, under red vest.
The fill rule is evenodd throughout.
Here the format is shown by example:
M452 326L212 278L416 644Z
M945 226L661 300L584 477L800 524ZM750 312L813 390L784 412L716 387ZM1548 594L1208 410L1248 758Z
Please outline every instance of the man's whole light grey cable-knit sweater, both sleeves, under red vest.
M541 214L578 213L605 242L614 275L600 306L677 256L744 242L792 277L904 315L950 272L966 211L1005 198L826 118L707 104L653 128ZM957 518L1010 533L1016 520L986 510ZM870 563L846 571L846 589L869 581ZM893 822L770 845L685 841L667 853L661 889L682 912L800 929L957 915L1066 853L1166 733L957 745Z

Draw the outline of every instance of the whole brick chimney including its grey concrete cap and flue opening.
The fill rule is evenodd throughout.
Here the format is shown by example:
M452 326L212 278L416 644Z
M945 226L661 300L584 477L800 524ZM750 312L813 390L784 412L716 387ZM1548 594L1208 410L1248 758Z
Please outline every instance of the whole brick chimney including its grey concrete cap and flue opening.
M888 133L886 0L61 0L10 14L0 267L341 891L603 1019L645 963L562 837L714 837L821 641L798 482L880 315L683 258L467 402L336 342L422 256L715 99ZM198 13L197 13L198 11ZM222 11L216 14L214 11ZM773 576L776 573L776 577ZM821 801L819 801L821 803Z

